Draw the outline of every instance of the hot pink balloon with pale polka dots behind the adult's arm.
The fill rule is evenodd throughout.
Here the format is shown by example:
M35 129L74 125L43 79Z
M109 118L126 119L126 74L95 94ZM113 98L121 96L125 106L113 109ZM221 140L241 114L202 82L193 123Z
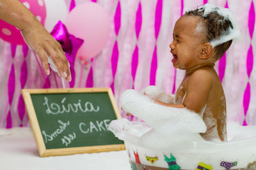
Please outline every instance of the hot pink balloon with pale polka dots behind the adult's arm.
M44 25L46 9L44 0L20 0ZM0 38L16 45L26 45L20 30L0 19Z

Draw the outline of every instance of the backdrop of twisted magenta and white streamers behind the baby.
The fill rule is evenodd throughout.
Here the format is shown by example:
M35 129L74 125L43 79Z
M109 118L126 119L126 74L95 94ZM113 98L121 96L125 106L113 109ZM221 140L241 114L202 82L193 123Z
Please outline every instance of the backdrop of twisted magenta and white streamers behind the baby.
M108 11L111 34L102 52L88 65L79 59L74 61L76 76L72 83L66 83L67 87L111 87L119 107L120 95L126 89L141 91L148 85L161 85L165 92L175 93L183 73L173 69L170 62L168 46L175 21L188 9L216 3L232 10L242 34L241 40L234 42L216 63L227 99L228 119L256 125L255 1L85 1L99 3ZM72 10L80 3L84 1L67 1L67 7ZM28 46L10 45L0 39L0 59L0 127L27 126L29 120L20 89L56 88L61 79L54 74L46 76ZM166 70L166 63L171 69ZM168 78L170 81L166 81Z

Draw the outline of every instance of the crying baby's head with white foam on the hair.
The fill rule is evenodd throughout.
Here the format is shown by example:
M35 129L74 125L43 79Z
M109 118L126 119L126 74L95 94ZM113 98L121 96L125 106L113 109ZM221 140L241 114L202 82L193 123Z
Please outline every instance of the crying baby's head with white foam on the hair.
M196 10L186 11L173 29L173 42L170 44L173 66L189 69L199 64L212 64L222 57L232 39L238 36L236 22L227 8L205 4ZM190 61L184 63L183 60Z

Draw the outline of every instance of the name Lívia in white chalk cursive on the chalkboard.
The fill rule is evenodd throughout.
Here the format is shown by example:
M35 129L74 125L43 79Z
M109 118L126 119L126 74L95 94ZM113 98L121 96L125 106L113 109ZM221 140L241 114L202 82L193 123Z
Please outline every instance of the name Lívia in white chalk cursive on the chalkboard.
M96 108L93 106L92 103L86 102L84 103L84 108L83 104L81 104L81 100L78 100L78 103L65 103L66 97L63 97L61 100L61 104L57 103L48 103L49 99L48 97L44 97L44 105L47 107L46 113L47 114L52 114L52 115L57 115L59 113L77 113L77 111L82 111L82 112L98 112L100 110L99 106ZM65 106L66 104L66 106Z

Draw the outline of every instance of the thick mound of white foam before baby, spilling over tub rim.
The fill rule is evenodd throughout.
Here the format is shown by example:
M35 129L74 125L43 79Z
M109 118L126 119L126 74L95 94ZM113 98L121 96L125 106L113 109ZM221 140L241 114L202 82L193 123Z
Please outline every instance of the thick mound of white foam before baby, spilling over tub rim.
M137 138L136 136L141 136L141 134L134 133L131 135L130 132L120 131L120 129L124 129L122 126L119 129L116 127L118 121L124 122L124 120L115 120L111 122L110 129L119 139L129 141L134 145L159 150L175 146L177 143L180 143L180 148L186 147L186 145L181 144L184 140L204 141L199 133L206 131L206 125L200 115L193 111L186 108L162 106L135 90L126 90L122 94L120 103L124 111L144 120L152 129L147 134L142 135L143 138ZM127 125L127 123L125 124ZM129 128L133 129L133 127Z

